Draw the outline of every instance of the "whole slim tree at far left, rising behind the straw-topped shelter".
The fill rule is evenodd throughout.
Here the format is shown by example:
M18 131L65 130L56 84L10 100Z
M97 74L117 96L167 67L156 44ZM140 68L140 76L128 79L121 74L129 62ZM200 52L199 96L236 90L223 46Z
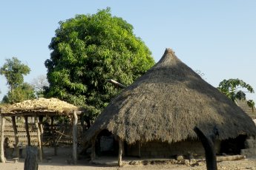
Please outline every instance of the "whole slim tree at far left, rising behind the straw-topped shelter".
M27 89L27 85L24 85L24 75L30 72L30 68L27 65L22 64L18 58L6 59L6 63L0 68L0 75L4 75L7 79L7 85L9 92L4 96L4 102L15 103L17 90ZM25 87L24 87L25 86ZM19 92L20 94L26 92Z

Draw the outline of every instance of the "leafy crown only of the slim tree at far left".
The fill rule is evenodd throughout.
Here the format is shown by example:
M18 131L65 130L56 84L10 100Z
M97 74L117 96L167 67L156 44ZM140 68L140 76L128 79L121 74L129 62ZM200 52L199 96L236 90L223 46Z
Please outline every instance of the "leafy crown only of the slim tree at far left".
M4 75L10 89L14 89L23 83L23 75L27 75L30 68L22 64L18 58L6 59L6 63L0 68L0 75Z

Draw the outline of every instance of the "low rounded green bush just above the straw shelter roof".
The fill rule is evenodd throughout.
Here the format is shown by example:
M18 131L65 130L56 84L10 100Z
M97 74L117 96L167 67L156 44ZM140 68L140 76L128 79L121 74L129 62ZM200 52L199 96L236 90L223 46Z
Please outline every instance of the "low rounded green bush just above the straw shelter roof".
M27 83L23 83L16 88L13 89L13 91L9 91L7 95L4 95L3 103L18 103L26 100L30 100L36 98L34 95L33 86Z

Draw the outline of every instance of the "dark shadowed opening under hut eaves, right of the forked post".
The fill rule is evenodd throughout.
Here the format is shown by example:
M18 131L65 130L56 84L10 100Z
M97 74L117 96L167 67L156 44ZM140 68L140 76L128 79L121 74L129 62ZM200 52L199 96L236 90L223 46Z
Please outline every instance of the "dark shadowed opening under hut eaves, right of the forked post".
M247 135L239 135L238 137L232 139L221 141L220 153L225 154L240 154L241 149L245 149L245 141Z

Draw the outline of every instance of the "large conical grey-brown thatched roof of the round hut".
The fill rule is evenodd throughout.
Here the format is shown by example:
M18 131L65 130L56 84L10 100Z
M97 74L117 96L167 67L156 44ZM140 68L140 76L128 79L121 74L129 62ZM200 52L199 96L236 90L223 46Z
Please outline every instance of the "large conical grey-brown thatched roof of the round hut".
M108 129L128 143L172 143L197 137L194 126L206 134L217 126L220 140L256 135L252 118L167 49L154 67L108 104L85 137L90 140Z

